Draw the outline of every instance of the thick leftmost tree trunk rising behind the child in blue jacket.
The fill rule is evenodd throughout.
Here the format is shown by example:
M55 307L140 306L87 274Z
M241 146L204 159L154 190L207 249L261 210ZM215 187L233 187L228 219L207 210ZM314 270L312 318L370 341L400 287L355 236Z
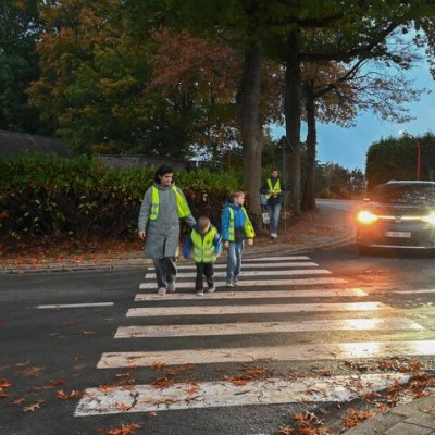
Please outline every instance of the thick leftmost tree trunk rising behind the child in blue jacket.
M261 130L260 94L262 48L251 42L245 51L244 73L240 86L240 133L244 147L244 184L249 191L249 210L260 216L261 188Z

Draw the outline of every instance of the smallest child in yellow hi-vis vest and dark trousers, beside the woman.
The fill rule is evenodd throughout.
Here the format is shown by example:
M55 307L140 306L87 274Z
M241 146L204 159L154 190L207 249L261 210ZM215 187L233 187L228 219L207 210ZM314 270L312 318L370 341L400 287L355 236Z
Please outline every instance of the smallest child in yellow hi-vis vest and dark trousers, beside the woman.
M195 289L197 296L203 296L203 277L207 279L207 293L213 293L216 287L213 283L214 260L222 251L222 239L217 229L210 223L207 216L200 216L191 229L190 236L186 237L183 247L183 256L187 259L194 250L194 260L197 265L197 278Z

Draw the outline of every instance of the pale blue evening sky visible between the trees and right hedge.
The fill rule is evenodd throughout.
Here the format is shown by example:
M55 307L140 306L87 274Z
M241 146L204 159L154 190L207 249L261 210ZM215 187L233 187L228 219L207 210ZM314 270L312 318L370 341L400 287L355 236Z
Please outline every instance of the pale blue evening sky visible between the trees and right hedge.
M343 128L334 124L318 124L318 161L320 163L338 163L348 170L360 169L365 172L365 157L369 147L383 138L399 137L403 130L413 136L435 133L435 80L426 63L420 63L409 70L407 77L414 79L415 88L426 88L433 94L423 95L420 101L408 104L409 114L414 120L398 124L382 121L370 112L361 113L356 126ZM274 137L281 138L284 128L272 129ZM304 130L301 140L304 140Z

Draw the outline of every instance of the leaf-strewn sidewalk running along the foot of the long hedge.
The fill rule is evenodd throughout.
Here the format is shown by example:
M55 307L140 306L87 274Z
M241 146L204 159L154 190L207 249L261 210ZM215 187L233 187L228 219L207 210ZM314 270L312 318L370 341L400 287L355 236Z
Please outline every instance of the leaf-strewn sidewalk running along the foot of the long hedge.
M348 213L322 207L316 212L303 214L294 222L283 222L279 237L272 240L268 235L254 239L253 246L246 246L244 257L297 254L313 250L351 244L355 228ZM179 259L183 262L184 259ZM84 270L134 269L149 263L141 250L117 254L104 252L57 256L55 258L0 258L0 275L41 272L73 272Z

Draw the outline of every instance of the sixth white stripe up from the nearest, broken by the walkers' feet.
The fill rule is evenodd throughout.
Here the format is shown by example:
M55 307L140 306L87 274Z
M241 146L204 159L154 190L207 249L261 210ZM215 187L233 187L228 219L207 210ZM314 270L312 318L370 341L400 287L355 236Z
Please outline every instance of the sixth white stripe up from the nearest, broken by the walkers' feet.
M271 274L271 273L269 273ZM303 285L325 285L325 284L346 284L341 278L291 278L291 279L241 279L239 282L243 287L271 287L271 286L303 286ZM217 281L214 283L216 287L225 287L225 281ZM176 283L177 288L194 288L192 282ZM140 283L139 289L145 290L148 288L157 289L154 282Z

